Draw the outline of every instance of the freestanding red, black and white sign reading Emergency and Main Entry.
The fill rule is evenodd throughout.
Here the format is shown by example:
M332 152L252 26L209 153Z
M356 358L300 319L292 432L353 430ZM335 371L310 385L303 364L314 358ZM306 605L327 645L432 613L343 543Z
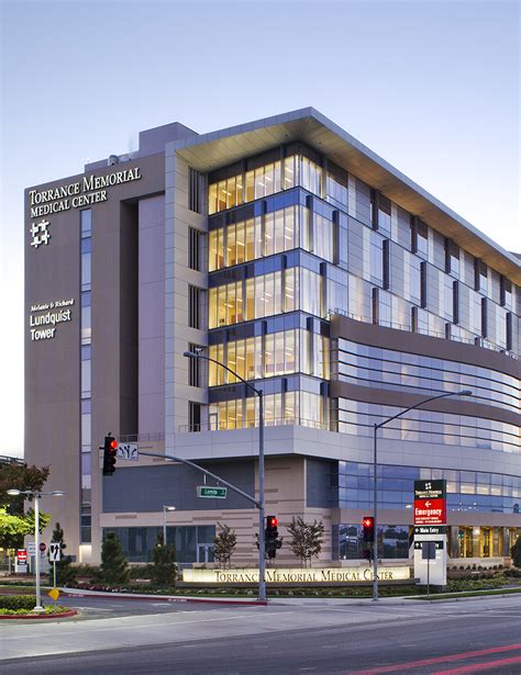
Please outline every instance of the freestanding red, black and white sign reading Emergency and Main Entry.
M445 586L447 581L446 538L446 481L414 481L414 577L420 584L428 582ZM422 556L424 542L434 544L435 558L428 561Z

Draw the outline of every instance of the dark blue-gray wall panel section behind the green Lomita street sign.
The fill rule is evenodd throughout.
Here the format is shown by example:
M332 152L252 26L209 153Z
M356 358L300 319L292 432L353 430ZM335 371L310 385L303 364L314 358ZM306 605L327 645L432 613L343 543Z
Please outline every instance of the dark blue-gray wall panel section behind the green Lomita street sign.
M120 460L120 464L121 464ZM201 466L220 475L247 494L254 494L254 462L235 461ZM222 510L223 508L250 508L244 497L229 490L226 499L198 497L196 488L203 484L203 475L181 464L162 466L135 466L120 469L114 475L103 479L104 513L160 511L163 505L175 506L178 510ZM214 481L208 480L209 485Z

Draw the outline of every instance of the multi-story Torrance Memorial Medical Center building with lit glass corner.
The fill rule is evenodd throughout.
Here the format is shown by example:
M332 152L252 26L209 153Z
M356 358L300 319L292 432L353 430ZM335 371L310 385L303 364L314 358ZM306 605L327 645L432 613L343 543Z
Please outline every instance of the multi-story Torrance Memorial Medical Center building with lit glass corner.
M445 479L452 561L505 562L521 527L518 256L314 109L142 132L25 205L25 457L67 493L65 514L43 507L77 561L110 530L144 562L166 519L180 562L211 562L219 524L233 562L254 562L239 495L200 498L201 475L160 458L100 469L112 431L255 494L258 402L234 371L264 393L266 513L282 535L322 520L339 565L364 558L374 424L472 390L380 430L379 550L409 558L413 481ZM196 348L230 370L184 357ZM277 563L295 563L287 545Z

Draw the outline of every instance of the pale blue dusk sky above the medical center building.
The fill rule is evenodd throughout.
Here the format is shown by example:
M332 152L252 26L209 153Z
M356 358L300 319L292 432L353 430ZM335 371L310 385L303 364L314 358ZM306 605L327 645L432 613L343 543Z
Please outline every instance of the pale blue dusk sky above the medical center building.
M142 130L207 133L312 105L521 252L517 0L0 0L0 454L23 453L23 190L136 149Z

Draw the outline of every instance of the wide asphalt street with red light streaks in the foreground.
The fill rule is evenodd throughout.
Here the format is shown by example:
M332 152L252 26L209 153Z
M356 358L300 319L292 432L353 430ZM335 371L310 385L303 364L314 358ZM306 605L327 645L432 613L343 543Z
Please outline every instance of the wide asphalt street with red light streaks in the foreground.
M208 609L199 605L198 609L203 609L197 612L188 603L181 605L184 610L174 609L169 615L26 626L18 627L18 631L11 629L10 634L2 627L3 656L16 650L18 655L23 655L25 631L33 655L8 657L0 662L0 672L521 673L519 596L378 607L315 603ZM40 653L44 646L55 653L36 657L38 644ZM89 651L82 652L82 645ZM60 651L70 653L57 653Z

